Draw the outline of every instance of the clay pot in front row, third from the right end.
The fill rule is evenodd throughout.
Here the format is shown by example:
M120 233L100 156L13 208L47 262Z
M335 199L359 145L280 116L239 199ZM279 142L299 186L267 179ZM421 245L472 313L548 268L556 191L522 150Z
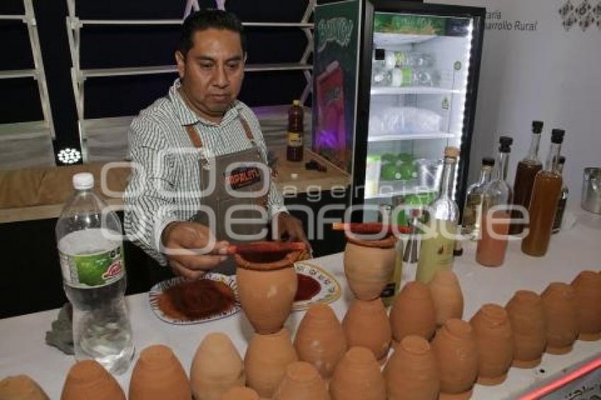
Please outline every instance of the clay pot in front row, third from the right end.
M530 290L518 290L505 310L513 331L513 367L536 367L547 346L542 299Z

